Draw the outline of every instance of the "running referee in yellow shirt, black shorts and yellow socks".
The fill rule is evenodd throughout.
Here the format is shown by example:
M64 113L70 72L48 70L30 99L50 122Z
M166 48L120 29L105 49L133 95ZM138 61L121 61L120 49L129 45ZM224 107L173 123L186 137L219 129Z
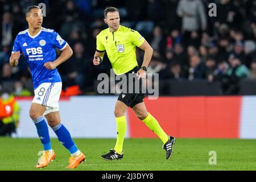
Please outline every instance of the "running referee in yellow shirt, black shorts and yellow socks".
M121 26L119 24L119 12L115 7L107 7L104 10L104 22L109 28L102 30L97 35L97 48L94 54L93 64L99 65L107 53L115 75L128 76L137 74L138 78L146 78L147 66L150 63L153 49L139 32ZM136 46L144 51L142 67L138 67L136 59ZM127 79L128 80L128 79ZM115 121L117 122L117 142L114 149L108 154L102 155L105 160L114 160L123 158L123 140L126 132L125 113L128 107L131 107L137 118L143 121L150 130L162 140L163 148L166 150L166 159L172 155L172 147L175 138L168 136L160 127L158 121L147 112L143 98L145 94L140 93L121 93L115 104Z

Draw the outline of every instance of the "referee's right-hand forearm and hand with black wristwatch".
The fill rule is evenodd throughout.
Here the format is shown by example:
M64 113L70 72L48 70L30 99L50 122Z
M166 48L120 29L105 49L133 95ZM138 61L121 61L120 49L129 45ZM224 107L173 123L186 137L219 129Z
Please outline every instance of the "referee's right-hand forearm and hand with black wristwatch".
M147 68L148 65L150 64L150 60L153 55L153 49L150 46L150 44L148 44L147 40L144 40L144 42L142 43L141 46L139 46L139 48L141 48L144 51L144 58L143 58L143 63L141 67ZM144 71L143 69L139 69L139 71L137 72L137 76L139 78L145 78L146 71Z

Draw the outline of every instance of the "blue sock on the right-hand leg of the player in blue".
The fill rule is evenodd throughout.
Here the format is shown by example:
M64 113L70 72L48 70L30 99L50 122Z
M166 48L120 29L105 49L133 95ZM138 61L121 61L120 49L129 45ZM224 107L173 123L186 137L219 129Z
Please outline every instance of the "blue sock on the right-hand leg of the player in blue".
M65 126L62 123L59 123L59 125L52 127L52 130L56 133L60 143L62 143L63 146L67 148L71 154L78 151L78 148L76 144L73 142L71 135L69 134L69 131L65 128Z

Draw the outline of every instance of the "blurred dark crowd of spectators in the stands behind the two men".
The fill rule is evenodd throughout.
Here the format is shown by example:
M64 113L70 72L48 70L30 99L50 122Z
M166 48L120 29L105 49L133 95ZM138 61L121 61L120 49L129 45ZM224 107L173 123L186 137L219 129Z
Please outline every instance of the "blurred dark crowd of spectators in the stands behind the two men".
M217 16L210 17L209 3ZM43 27L54 29L69 43L73 56L58 67L63 90L78 86L77 94L96 94L99 73L110 73L108 57L92 64L96 36L106 28L104 9L115 6L121 24L139 31L154 49L147 73L160 80L220 81L224 94L236 94L237 82L256 79L256 1L253 0L0 0L0 90L15 96L33 95L24 57L10 67L15 36L27 28L24 10L46 4ZM138 48L142 64L144 52Z

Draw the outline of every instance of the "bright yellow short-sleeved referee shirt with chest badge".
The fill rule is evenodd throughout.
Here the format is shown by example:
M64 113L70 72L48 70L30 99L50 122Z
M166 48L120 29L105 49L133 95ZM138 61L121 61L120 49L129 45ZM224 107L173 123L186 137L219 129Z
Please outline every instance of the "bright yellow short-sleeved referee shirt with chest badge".
M144 40L131 28L120 25L115 32L106 28L97 35L97 52L106 51L115 74L122 75L138 66L136 46L141 46Z

